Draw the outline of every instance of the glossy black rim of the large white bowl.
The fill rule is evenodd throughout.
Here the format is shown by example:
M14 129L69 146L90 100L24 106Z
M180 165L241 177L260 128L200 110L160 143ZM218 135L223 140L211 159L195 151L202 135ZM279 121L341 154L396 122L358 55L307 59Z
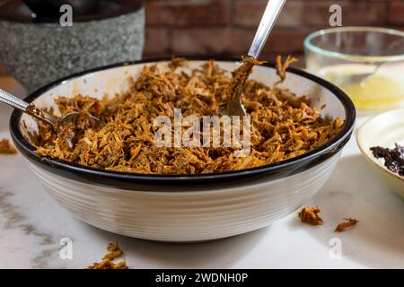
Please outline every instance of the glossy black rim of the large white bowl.
M215 59L216 61L224 62L238 62L240 58L234 57L185 57L188 60L194 61L206 61L209 59ZM117 68L126 65L139 65L154 62L170 61L171 57L156 57L137 61L128 61L114 65L105 65L93 69L83 71L81 73L72 74L62 79L59 79L53 83L49 83L31 92L31 94L24 100L31 102L40 97L44 92L55 88L57 85L65 83L66 81L74 80L86 74L92 74L95 72L101 72L112 68ZM273 63L266 63L264 66L275 68ZM271 176L271 179L284 178L295 173L307 170L308 168L321 163L329 159L332 155L342 149L352 135L353 128L356 121L356 109L355 106L347 96L347 94L340 90L337 86L326 80L321 79L318 76L309 74L303 70L289 67L287 72L297 74L303 78L312 80L314 83L320 84L322 87L331 91L334 96L342 103L346 119L342 130L331 139L328 143L321 145L319 148L304 153L303 155L294 157L286 161L280 161L277 163L259 166L246 170L232 170L226 172L215 172L205 174L191 174L191 175L156 175L156 174L137 174L127 173L110 170L98 170L88 168L78 164L72 164L65 161L58 161L50 159L44 156L40 156L35 152L35 148L25 140L20 129L20 119L22 117L22 111L15 109L10 118L10 132L13 138L13 142L22 154L27 157L31 162L39 165L54 174L62 177L71 178L82 181L84 183L90 183L92 185L103 187L119 187L123 189L154 189L153 187L163 186L175 186L175 187L190 187L194 186L198 188L199 185L220 185L221 183L233 182L245 183L248 179L253 180L257 178L263 178ZM242 179L242 181L241 181Z

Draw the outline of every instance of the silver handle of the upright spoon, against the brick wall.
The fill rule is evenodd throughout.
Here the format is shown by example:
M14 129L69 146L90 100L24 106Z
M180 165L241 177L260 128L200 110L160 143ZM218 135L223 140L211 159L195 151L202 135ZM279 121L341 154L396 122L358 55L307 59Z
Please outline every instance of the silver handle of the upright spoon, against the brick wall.
M268 35L277 22L277 16L279 16L282 8L284 7L286 0L269 0L267 8L265 8L264 15L259 22L259 28L255 34L254 39L249 51L249 56L258 59L262 48L264 48L267 42Z

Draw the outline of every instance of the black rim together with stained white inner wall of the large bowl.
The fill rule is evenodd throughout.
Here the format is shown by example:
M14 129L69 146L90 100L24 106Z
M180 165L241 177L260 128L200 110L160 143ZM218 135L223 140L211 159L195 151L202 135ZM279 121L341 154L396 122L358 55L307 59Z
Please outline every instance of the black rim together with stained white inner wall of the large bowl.
M184 73L189 69L203 65L207 57L197 57L189 60L188 67L183 68ZM104 95L112 97L116 93L127 91L131 84L129 77L136 78L145 65L157 65L160 71L167 70L171 59L154 59L139 62L110 65L75 74L56 83L34 91L26 99L34 102L40 108L55 107L54 100L58 96L73 97L78 93L101 99ZM233 71L239 61L236 59L217 60L227 71ZM179 71L180 72L180 71ZM230 72L229 72L230 76ZM277 75L274 65L266 64L256 67L251 78L271 86L277 82ZM189 175L157 175L157 174L137 174L111 170L97 170L84 167L75 163L68 163L49 159L38 155L35 147L30 143L27 132L38 130L36 122L28 115L20 111L14 111L10 121L10 131L13 141L20 152L35 165L38 165L52 173L63 177L81 180L83 182L97 182L98 185L119 188L145 188L158 186L159 184L172 185L175 187L185 187L188 185L218 185L228 182L240 184L245 180L277 180L300 173L303 170L311 169L313 166L326 161L329 157L337 154L347 143L352 135L352 130L356 119L356 110L347 95L333 84L322 80L312 74L294 68L288 69L286 81L281 88L289 89L298 96L305 95L312 100L312 106L317 108L322 117L340 117L346 120L345 125L338 135L321 145L317 149L296 156L292 159L279 161L276 163L250 168L246 170L231 170L225 172L212 172ZM245 179L245 180L244 180Z

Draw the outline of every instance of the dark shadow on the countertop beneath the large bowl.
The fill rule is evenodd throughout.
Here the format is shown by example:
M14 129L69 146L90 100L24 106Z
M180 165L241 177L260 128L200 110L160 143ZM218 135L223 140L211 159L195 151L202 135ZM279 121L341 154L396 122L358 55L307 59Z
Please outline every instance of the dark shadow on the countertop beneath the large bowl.
M156 268L232 268L259 244L270 227L255 230L226 239L216 239L202 243L168 243L131 239L108 231L89 227L89 231L101 238L118 239L124 249L130 268L145 268L153 264ZM101 256L101 254L100 254ZM136 265L134 257L141 265Z

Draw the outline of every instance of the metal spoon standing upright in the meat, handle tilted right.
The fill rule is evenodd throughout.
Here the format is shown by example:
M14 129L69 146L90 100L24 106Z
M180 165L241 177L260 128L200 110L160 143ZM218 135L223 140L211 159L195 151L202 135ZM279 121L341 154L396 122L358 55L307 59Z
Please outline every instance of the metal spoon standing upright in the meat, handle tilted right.
M264 45L267 42L269 33L271 32L272 28L274 28L275 22L277 22L277 17L279 16L282 8L284 7L285 2L286 0L268 1L267 8L265 8L265 12L261 18L261 22L259 22L259 28L255 34L254 39L252 40L250 51L248 53L249 57L258 59L262 48L264 48ZM241 83L241 85L244 85L244 83ZM242 95L240 92L236 92L236 94L233 94L233 99L229 100L227 103L227 107L225 110L225 113L227 115L230 116L247 115L247 112L242 106L241 96Z

